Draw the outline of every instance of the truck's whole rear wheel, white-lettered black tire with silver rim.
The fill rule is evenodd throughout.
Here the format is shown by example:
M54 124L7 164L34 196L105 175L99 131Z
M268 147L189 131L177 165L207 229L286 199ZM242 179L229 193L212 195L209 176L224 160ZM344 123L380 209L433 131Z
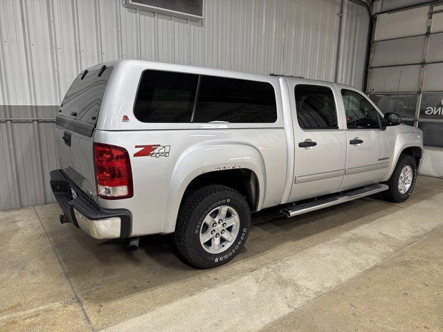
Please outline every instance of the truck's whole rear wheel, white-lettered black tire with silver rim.
M197 268L214 268L233 259L248 237L251 210L239 192L208 185L186 194L177 218L174 242Z

